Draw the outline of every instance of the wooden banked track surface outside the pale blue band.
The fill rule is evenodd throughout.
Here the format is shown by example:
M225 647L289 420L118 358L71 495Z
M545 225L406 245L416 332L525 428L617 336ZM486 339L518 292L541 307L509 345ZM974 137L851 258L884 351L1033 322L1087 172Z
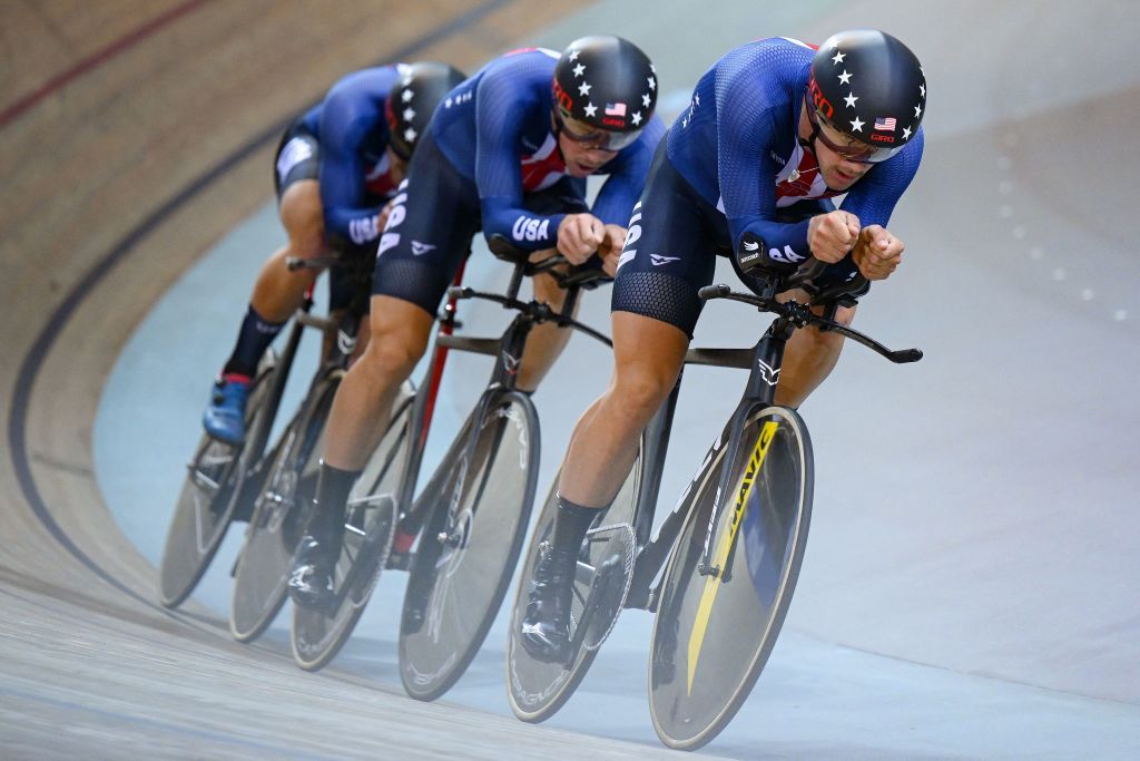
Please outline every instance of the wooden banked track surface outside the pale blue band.
M162 292L270 197L285 121L377 62L472 71L553 21L549 7L2 0L0 14L0 755L375 754L381 737L413 756L502 758L506 738L507 755L553 742L628 754L302 674L231 642L209 615L163 612L154 568L116 529L92 472L91 423L116 355ZM310 690L336 715L267 740L296 732ZM407 731L422 717L424 730Z

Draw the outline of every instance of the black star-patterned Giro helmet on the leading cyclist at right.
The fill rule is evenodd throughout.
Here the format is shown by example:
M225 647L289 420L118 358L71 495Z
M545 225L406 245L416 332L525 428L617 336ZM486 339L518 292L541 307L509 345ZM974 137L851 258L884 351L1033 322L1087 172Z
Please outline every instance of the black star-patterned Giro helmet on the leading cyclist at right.
M926 76L918 57L878 30L833 34L812 59L807 82L813 139L819 122L861 149L844 152L857 161L885 161L915 133L926 113ZM824 137L828 147L836 149Z

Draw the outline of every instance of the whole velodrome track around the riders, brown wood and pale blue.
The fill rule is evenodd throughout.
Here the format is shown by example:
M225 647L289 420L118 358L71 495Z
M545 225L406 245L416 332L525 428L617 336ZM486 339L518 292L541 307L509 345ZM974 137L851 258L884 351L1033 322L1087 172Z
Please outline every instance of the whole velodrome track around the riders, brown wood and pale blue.
M534 728L503 715L502 622L446 701L401 696L386 615L399 575L318 675L279 633L229 640L226 557L195 605L157 607L153 564L209 377L280 237L270 152L295 111L381 59L474 68L520 43L621 33L654 58L675 113L732 44L881 25L923 60L928 143L893 224L906 264L857 324L927 358L894 367L848 348L805 405L817 486L800 585L752 698L705 753L1134 756L1130 3L602 2L563 3L563 18L524 2L0 8L0 755L663 755L644 615L622 620L554 727ZM477 282L502 274L487 259ZM604 296L587 311L604 325ZM710 308L698 342L748 342L760 325ZM537 395L540 489L604 365L576 342ZM445 422L464 375L447 380ZM665 495L740 381L686 383Z

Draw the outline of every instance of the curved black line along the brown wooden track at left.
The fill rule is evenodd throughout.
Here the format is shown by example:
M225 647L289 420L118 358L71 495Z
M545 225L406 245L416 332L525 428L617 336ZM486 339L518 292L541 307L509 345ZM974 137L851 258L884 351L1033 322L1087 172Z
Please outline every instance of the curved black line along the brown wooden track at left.
M406 60L412 58L424 48L427 48L450 37L451 34L464 31L469 26L482 21L484 16L498 10L511 1L512 0L489 0L488 2L483 2L466 14L458 16L447 24L439 26L434 31L429 32L424 37L414 40L404 48L396 50L388 60L377 62L376 65L388 63L389 60ZM56 337L62 332L63 326L75 314L88 294L91 293L100 281L107 276L112 268L124 259L127 254L135 249L139 241L166 221L166 219L177 212L182 205L226 176L227 172L233 170L252 153L260 149L270 140L279 138L282 131L284 131L285 128L293 122L294 116L295 115L291 115L287 120L278 122L271 128L259 132L245 145L222 159L221 162L214 167L211 167L205 173L193 180L172 199L153 211L106 254L104 254L95 264L95 266L88 270L82 280L80 280L80 282L72 288L71 291L68 291L63 302L51 314L51 317L48 318L43 331L36 337L35 342L32 343L32 347L28 349L23 362L21 363L19 374L17 375L16 386L11 395L11 415L8 420L8 445L11 450L13 468L16 470L16 478L19 481L21 491L24 493L24 499L32 508L32 512L35 515L36 519L72 557L79 560L96 576L142 605L180 620L181 617L177 616L173 610L168 610L166 608L163 608L162 606L139 594L135 590L127 586L127 584L115 578L105 568L99 566L98 562L96 562L89 554L80 549L75 542L72 541L71 536L67 535L66 529L56 521L55 517L52 517L50 509L43 501L43 496L40 494L39 486L35 483L35 477L32 475L31 456L27 451L27 415L30 412L32 391L34 390L35 379L43 369L43 363L47 361L48 354L51 351Z

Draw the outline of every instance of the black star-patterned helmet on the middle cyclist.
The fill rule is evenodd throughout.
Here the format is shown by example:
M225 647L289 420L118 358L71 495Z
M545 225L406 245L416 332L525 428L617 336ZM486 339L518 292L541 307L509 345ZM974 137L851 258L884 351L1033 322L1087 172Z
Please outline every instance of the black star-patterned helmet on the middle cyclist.
M657 107L657 70L620 37L575 40L554 66L554 119L572 140L620 151L637 139Z

